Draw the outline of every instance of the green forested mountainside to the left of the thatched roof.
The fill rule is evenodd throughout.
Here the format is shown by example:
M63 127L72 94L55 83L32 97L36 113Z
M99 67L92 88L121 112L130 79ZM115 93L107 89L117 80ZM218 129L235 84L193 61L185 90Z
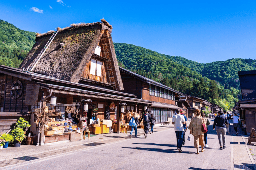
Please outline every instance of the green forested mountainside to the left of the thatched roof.
M35 43L35 33L0 20L0 64L18 68Z

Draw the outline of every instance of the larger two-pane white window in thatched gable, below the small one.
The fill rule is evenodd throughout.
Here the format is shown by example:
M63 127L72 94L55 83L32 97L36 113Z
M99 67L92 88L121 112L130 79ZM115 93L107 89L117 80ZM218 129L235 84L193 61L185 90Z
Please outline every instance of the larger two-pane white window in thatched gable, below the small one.
M91 59L91 65L90 65L90 77L89 77L89 79L100 81L101 67L102 67L102 62L92 58Z

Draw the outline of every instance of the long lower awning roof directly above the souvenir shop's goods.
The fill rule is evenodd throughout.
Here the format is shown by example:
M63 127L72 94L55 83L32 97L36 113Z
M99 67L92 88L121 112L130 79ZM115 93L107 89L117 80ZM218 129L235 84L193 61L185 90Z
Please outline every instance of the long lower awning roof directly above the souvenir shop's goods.
M75 89L71 87L58 86L53 84L47 84L47 85L53 89L53 93L70 94L70 95L84 96L89 98L109 99L109 100L134 102L134 103L142 103L142 104L149 104L149 105L151 105L152 103L149 100L142 100L142 99L131 98L126 96L117 96L117 95L111 95L106 93Z

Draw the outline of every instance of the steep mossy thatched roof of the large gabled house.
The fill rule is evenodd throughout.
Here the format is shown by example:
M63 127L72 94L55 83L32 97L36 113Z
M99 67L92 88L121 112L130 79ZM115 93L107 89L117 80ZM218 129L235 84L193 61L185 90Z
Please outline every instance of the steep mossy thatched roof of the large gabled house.
M70 27L57 28L58 34L41 57L33 72L56 77L61 80L78 83L90 61L103 33L108 32L111 49L111 67L113 69L116 90L123 90L123 83L116 59L115 48L110 35L112 26L104 19L89 24L72 24ZM53 31L37 34L36 43L20 65L20 69L31 67L34 60L51 38ZM60 43L64 43L61 46Z

